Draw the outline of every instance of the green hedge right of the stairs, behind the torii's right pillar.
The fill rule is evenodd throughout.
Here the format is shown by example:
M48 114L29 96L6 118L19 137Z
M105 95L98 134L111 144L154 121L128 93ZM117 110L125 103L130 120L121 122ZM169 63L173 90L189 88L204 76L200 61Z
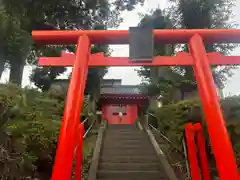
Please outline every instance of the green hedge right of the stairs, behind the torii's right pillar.
M237 161L240 165L240 96L227 97L221 100L221 107ZM202 121L204 119L199 99L165 105L155 111L155 116L159 118L158 128L179 147L181 146L186 122ZM206 133L205 121L202 122ZM208 140L207 135L206 133L206 139ZM210 143L208 142L208 144Z

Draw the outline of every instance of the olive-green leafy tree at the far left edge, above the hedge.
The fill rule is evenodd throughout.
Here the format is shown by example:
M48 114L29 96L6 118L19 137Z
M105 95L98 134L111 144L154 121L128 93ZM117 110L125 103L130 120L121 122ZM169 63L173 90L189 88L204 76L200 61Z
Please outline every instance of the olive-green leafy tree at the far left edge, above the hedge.
M19 71L23 70L22 61L30 50L31 37L25 30L21 29L20 21L0 7L0 27L1 27L1 46L0 46L0 77L5 68L5 64L11 65L10 79L19 82L22 79ZM17 63L12 64L13 61Z

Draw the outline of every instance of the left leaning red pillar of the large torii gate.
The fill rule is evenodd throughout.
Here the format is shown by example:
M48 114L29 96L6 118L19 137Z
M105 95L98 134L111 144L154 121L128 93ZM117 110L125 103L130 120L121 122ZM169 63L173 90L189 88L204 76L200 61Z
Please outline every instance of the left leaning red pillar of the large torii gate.
M80 111L83 104L89 53L90 41L88 37L83 36L78 41L76 56L79 60L75 61L68 89L52 180L71 179L72 161L79 131Z

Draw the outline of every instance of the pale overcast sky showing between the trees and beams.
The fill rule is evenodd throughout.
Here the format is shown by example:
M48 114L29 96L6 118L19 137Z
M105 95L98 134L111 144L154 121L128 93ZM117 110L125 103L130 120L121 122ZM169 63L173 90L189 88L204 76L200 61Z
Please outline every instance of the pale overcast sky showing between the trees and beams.
M234 7L235 17L233 21L240 24L240 0L236 0L236 6ZM156 9L160 7L164 9L167 7L167 0L146 0L146 3L143 7L138 6L134 11L123 12L123 23L120 24L118 29L128 29L130 26L137 26L140 21L138 13L148 12L151 9ZM128 56L128 46L111 46L113 53L112 56ZM233 55L240 55L240 49L236 49ZM31 67L25 67L23 74L23 86L29 85L29 74ZM140 78L137 76L134 67L112 67L109 69L108 74L105 78L120 78L123 80L123 84L139 84ZM9 71L6 70L4 75L1 78L1 82L6 82L8 80ZM234 70L234 76L229 79L226 88L224 89L225 95L234 95L240 94L240 84L238 80L240 79L240 69Z

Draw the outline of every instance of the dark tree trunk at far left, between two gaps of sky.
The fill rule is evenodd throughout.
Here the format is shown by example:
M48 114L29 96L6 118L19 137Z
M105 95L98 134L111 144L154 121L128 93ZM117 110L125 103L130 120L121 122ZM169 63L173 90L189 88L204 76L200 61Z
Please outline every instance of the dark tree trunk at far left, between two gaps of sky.
M24 61L15 61L11 63L10 78L9 78L9 81L11 83L15 83L20 86L22 85L24 65L25 65Z

